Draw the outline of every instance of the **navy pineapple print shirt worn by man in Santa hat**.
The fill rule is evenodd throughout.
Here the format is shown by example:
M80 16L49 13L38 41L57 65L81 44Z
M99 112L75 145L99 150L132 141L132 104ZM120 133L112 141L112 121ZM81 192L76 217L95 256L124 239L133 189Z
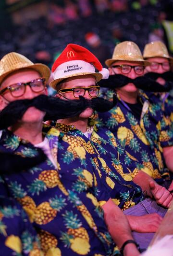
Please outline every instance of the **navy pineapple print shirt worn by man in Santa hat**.
M125 203L125 199L121 197L122 191L128 191L128 200L134 197L135 204L142 199L142 191L140 187L133 182L133 178L137 175L139 170L133 165L132 171L130 171L130 168L126 168L121 162L125 158L131 167L131 162L133 162L134 159L137 161L137 159L130 154L126 154L124 148L116 141L111 131L106 128L99 128L97 122L93 119L89 119L88 121L87 131L89 133L89 138L86 138L86 136L74 126L72 128L72 126L56 124L56 127L63 127L63 129L67 131L65 138L70 137L70 135L72 138L74 136L76 144L79 143L77 142L77 139L80 142L85 141L86 144L91 144L94 154L92 154L93 152L90 152L90 160L94 167L94 173L96 176L99 175L102 183L104 183L105 193L111 193L112 199L116 198L117 200L120 200L118 206L121 209L124 207ZM80 182L78 180L74 184L74 190L81 192L85 189L86 185L89 185L88 180L84 178L85 171L87 170L83 170L82 168L75 170L74 175L79 177ZM93 180L94 183L97 184L98 180L95 181L95 177L93 177L92 182ZM103 189L101 190L103 191ZM96 187L96 196L98 199L99 193L100 191ZM100 205L105 202L105 199L99 199Z

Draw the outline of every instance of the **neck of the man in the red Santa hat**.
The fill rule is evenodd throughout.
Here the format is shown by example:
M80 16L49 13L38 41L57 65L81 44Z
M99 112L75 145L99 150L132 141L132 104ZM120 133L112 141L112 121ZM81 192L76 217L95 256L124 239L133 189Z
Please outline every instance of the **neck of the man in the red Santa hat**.
M72 117L58 120L57 123L64 125L74 125L76 129L84 133L87 131L88 118Z

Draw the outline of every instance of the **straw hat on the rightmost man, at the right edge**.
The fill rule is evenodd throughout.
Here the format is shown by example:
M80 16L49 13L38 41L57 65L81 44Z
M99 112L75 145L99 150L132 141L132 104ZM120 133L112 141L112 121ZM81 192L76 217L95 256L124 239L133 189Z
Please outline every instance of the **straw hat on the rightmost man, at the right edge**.
M144 58L163 57L163 58L168 58L173 62L173 57L169 56L166 45L161 41L147 43L144 48L143 57Z

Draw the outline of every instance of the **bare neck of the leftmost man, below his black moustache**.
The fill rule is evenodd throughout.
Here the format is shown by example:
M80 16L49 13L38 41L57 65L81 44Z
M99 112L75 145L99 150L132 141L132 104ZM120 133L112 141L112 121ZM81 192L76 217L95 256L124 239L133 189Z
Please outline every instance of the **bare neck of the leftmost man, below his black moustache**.
M25 123L16 124L9 128L16 136L31 142L32 144L38 144L43 141L42 136L43 124L40 123Z

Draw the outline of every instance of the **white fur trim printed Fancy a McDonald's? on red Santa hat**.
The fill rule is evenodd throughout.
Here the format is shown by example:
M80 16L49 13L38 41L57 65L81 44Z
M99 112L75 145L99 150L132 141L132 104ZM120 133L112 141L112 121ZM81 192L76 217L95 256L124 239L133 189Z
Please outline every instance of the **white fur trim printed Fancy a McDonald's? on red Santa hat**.
M53 72L53 78L59 79L78 73L95 73L95 68L92 64L84 60L71 60L59 65Z

